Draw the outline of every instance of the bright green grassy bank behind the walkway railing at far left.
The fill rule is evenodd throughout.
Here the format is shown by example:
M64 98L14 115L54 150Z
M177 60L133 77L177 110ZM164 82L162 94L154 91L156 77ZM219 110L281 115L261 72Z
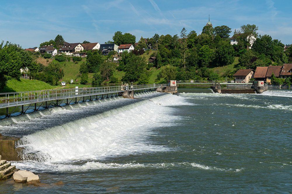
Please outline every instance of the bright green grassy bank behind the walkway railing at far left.
M51 86L50 84L39 81L39 80L12 79L12 80L8 80L6 86L4 86L4 88L1 90L1 93L50 90L56 87L60 87L60 86Z

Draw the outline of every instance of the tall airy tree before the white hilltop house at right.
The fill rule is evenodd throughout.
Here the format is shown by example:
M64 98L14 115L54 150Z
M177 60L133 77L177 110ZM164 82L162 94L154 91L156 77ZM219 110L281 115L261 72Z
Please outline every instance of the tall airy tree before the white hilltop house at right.
M245 42L246 49L251 47L254 38L258 37L258 26L255 24L242 25L238 31L234 31L234 36L237 40Z

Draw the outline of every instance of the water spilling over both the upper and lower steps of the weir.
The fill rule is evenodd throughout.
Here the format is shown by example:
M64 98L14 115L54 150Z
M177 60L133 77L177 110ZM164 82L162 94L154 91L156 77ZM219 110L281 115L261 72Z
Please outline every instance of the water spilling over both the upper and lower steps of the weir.
M147 137L155 134L154 128L164 127L171 124L172 120L179 119L174 115L169 115L172 112L171 107L164 106L175 103L177 98L179 97L175 95L164 94L151 99L134 99L137 100L135 103L133 99L119 99L83 109L81 107L74 110L62 110L52 113L46 119L32 119L28 124L25 122L15 124L13 127L17 128L21 124L26 124L25 127L29 128L37 122L43 122L39 123L39 127L44 127L42 130L23 136L18 141L17 146L24 148L22 153L24 162L18 165L20 167L22 164L28 165L25 161L35 161L33 163L38 165L44 163L53 165L74 161L103 160L141 152L166 151L168 148L164 146L147 142ZM91 109L102 106L106 108L112 103L121 102L124 105L118 108L48 127L53 122L58 122L58 119L54 120L54 117L65 117L64 112L73 114L75 111L77 115L78 113L82 115ZM62 119L59 118L59 120ZM65 118L65 120L68 119ZM49 169L46 167L46 170Z

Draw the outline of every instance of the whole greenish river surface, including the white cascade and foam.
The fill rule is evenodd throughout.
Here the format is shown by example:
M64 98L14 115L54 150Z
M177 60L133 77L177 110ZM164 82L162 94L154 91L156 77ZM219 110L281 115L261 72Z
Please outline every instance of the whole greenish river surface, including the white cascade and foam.
M13 165L65 184L0 193L292 193L291 97L179 89L2 127L22 137Z

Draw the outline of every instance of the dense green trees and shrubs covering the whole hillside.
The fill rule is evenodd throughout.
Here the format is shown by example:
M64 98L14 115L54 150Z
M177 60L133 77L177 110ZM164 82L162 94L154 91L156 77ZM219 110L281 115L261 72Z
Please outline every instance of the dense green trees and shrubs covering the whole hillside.
M118 54L111 51L109 55L103 56L101 51L87 51L86 60L81 57L57 55L55 60L44 66L36 63L36 58L51 58L50 54L40 55L39 52L30 52L19 48L15 44L4 42L0 44L0 89L4 87L7 80L18 79L21 75L20 69L25 69L30 79L37 79L56 85L64 76L60 63L73 61L80 63L80 83L88 83L88 73L93 73L94 84L102 82L117 83L118 81L147 84L151 69L156 67L160 72L157 80L220 80L233 79L232 75L238 69L256 69L256 67L269 65L282 65L292 63L292 49L289 47L284 52L284 44L270 35L258 35L256 25L243 25L238 31L234 31L238 44L230 44L230 31L228 26L206 25L202 33L197 35L192 30L189 33L185 28L179 35L158 35L152 38L141 37L138 45L132 52ZM256 37L251 46L249 38ZM41 43L51 44L56 48L61 46L64 39L58 35L55 40ZM113 41L106 43L133 44L135 36L129 33L122 34L120 31L114 33ZM89 43L84 41L83 43ZM249 49L251 47L251 49ZM148 54L148 55L146 55ZM149 63L150 56L154 59ZM113 57L119 58L119 63L113 63ZM224 67L238 62L234 68L226 69L223 73L214 72L214 67ZM124 72L121 80L113 75L115 71Z

